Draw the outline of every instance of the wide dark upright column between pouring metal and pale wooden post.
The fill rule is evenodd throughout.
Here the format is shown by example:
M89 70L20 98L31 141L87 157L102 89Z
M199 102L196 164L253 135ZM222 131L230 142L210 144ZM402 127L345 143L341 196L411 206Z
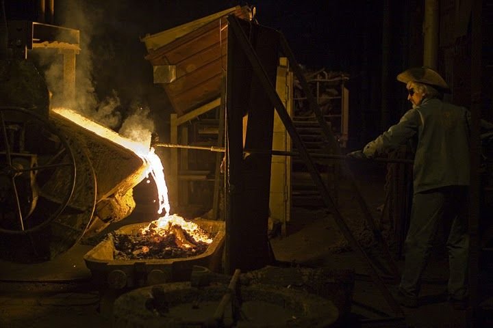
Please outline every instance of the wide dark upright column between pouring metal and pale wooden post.
M273 260L267 228L274 110L262 79L268 79L271 85L275 82L279 55L277 31L244 20L242 26L238 20L236 24L242 31L248 30L247 42L255 45L255 53L259 56L257 59L265 68L266 75L260 77L253 74L255 64L249 61L248 55L242 49L244 40L238 39L236 33L229 32L227 128L230 201L226 221L229 272L234 269L260 269ZM258 149L260 152L243 156L240 135L242 137L242 118L246 113L248 124L245 147Z

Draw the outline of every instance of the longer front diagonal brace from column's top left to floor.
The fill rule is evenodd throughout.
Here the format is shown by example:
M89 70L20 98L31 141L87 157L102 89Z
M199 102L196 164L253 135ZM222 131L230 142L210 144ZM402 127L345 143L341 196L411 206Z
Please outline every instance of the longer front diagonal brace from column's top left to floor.
M305 144L301 140L301 137L297 133L296 128L294 127L294 124L291 121L288 111L286 111L286 107L284 107L283 102L279 98L279 95L275 92L275 88L273 87L272 83L270 83L267 73L264 69L264 66L262 66L260 59L255 54L255 51L253 50L251 43L249 42L247 36L245 35L242 27L240 27L238 18L236 18L233 15L230 15L228 16L227 20L229 23L230 31L232 31L235 34L236 40L238 40L245 55L247 55L251 63L253 72L255 72L255 74L260 80L260 83L262 83L262 87L264 88L268 98L270 99L273 106L275 107L277 114L279 115L279 118L281 118L281 121L286 127L286 131L288 131L288 133L290 134L294 146L296 146L296 149L299 150L301 157L305 165L307 166L309 174L310 176L312 176L312 180L316 184L316 187L318 188L320 195L322 195L322 199L325 202L325 205L328 208L331 208L333 212L332 214L334 221L336 221L342 234L344 235L346 240L351 244L351 247L353 247L353 249L355 249L360 254L360 256L362 256L362 258L364 258L364 260L366 260L366 264L368 264L368 270L370 272L370 275L372 275L373 281L375 282L375 284L377 284L378 288L382 292L383 297L390 305L390 308L392 308L392 310L396 314L403 315L401 307L396 302L394 297L392 297L389 290L386 288L385 284L383 284L383 281L379 277L377 273L377 269L375 269L375 267L373 266L372 260L370 260L368 254L366 254L366 251L364 251L362 246L359 244L359 241L357 241L357 239L349 229L349 226L347 226L346 222L344 221L344 218L340 214L336 204L333 202L332 197L329 191L327 190L327 187L325 186L325 183L320 177L320 174L318 173L316 166L312 161L312 158L310 157L307 148L305 147Z

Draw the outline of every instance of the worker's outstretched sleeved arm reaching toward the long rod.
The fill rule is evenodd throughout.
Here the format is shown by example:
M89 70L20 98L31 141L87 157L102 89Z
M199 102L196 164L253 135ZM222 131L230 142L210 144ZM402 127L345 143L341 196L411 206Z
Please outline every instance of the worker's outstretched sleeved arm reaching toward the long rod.
M364 148L366 157L374 157L381 152L388 152L404 144L413 137L421 124L420 113L416 109L410 109L403 115L399 123L390 126L377 139L370 141Z

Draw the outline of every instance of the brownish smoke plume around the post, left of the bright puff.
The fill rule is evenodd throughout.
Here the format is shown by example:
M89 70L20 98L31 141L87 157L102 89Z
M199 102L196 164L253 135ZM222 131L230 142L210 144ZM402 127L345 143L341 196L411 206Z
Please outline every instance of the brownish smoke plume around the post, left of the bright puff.
M40 49L35 52L51 92L51 107L67 107L81 115L107 126L121 126L121 100L118 92L110 88L108 94L97 93L94 79L94 62L101 57L114 57L111 47L97 46L93 42L98 33L104 33L104 15L101 5L92 1L69 0L55 12L60 26L77 29L80 33L80 52L75 57L75 92L64 92L63 56L58 51ZM97 48L97 55L94 55ZM110 82L110 81L109 81Z

